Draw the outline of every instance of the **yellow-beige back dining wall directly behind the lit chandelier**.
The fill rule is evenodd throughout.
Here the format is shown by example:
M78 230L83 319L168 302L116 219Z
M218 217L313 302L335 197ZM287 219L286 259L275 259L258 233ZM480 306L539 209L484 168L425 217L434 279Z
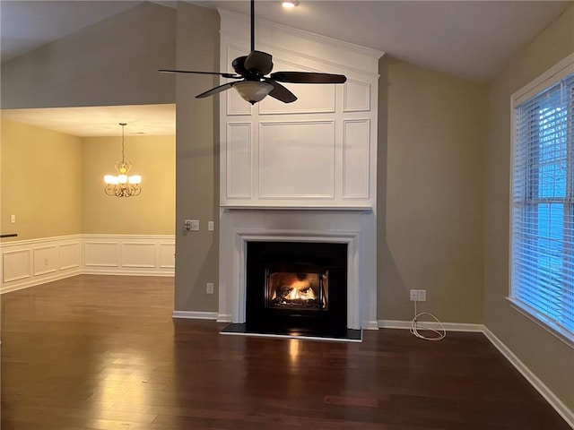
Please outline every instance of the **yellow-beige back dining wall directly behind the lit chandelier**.
M126 127L127 128L127 127ZM142 193L110 197L103 176L116 175L121 137L82 139L82 233L173 235L175 223L175 136L129 136L131 174L142 175Z

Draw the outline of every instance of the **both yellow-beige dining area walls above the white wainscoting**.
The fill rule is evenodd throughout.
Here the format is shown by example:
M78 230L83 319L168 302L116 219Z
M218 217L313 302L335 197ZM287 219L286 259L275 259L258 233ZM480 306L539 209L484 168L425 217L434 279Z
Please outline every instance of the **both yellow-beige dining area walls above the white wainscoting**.
M79 138L4 119L0 150L2 232L18 233L5 240L174 234L175 136L126 136L126 159L143 176L142 193L130 198L103 191L103 176L121 159L120 137Z

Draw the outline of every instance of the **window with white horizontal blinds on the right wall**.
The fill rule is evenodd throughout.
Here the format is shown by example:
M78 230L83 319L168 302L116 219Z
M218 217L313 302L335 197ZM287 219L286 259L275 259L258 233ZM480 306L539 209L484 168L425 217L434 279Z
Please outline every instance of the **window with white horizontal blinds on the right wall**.
M574 341L574 56L512 105L509 298Z

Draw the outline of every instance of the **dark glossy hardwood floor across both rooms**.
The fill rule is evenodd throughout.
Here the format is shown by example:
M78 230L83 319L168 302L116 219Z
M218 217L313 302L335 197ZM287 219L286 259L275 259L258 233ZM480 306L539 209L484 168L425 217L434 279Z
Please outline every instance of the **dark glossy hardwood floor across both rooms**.
M570 428L480 333L261 339L172 309L171 278L2 296L2 430Z

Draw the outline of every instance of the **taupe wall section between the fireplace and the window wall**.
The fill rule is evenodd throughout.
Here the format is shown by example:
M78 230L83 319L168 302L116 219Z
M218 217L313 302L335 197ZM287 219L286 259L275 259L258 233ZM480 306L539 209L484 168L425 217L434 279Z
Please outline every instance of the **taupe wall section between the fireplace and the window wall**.
M379 64L378 319L483 322L486 86Z

